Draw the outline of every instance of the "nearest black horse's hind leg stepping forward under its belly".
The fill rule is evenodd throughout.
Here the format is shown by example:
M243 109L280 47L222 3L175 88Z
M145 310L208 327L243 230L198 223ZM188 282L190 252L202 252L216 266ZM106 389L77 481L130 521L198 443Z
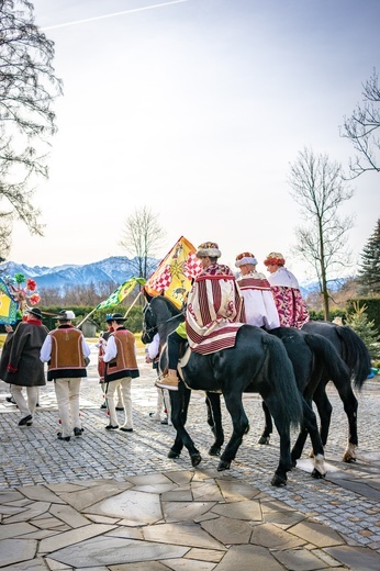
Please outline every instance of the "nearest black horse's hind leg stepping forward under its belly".
M243 407L242 393L224 394L224 401L233 423L233 433L221 456L221 461L217 466L219 471L230 469L231 462L234 460L243 441L243 436L249 429L249 422Z

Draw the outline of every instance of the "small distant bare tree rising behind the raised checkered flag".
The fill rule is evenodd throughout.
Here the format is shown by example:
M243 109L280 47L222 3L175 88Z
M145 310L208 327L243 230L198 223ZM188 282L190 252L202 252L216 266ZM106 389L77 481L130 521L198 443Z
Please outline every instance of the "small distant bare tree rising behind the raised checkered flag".
M126 219L120 245L134 258L132 266L137 278L147 279L150 276L155 267L152 258L156 256L164 237L157 214L147 206L136 210Z

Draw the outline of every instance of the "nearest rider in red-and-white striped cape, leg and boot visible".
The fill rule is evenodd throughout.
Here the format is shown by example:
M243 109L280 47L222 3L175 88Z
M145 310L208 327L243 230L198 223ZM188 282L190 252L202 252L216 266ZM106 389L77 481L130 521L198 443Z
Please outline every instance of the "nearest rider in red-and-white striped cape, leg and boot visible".
M202 271L190 290L186 310L186 335L192 351L208 355L234 347L236 333L245 321L243 298L228 266L217 264L217 244L205 242L195 254ZM168 336L168 374L156 387L178 390L177 362L181 328ZM175 351L177 347L177 354ZM176 365L176 368L175 368Z

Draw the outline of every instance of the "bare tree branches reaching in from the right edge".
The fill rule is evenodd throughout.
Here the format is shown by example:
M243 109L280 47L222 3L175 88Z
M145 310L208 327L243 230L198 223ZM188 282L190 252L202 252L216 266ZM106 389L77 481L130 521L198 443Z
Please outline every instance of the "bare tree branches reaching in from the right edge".
M362 89L362 103L344 117L340 127L340 136L348 138L357 152L349 161L351 178L369 170L380 172L380 88L376 69Z

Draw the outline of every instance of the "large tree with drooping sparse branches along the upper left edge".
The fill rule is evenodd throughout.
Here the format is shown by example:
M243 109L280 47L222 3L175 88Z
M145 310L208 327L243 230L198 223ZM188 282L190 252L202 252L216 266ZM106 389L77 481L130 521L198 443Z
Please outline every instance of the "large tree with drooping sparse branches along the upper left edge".
M0 232L8 237L0 254L9 250L15 219L31 234L43 234L32 198L37 178L48 175L52 103L62 81L52 65L54 43L34 24L33 10L27 0L0 2Z

